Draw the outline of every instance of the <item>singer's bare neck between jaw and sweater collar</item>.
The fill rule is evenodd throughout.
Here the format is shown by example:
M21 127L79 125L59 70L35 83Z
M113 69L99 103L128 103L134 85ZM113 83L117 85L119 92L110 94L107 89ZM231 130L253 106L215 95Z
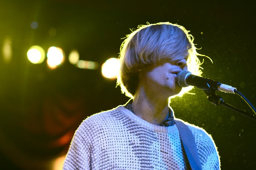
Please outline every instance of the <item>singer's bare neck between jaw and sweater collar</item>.
M137 91L132 102L134 114L154 125L161 125L168 119L168 98L147 95L143 89Z

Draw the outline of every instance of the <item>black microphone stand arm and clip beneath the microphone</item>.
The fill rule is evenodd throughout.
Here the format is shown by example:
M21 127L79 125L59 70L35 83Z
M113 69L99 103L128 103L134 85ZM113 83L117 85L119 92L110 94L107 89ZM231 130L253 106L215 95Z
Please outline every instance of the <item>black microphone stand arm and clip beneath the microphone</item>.
M223 105L227 108L232 109L233 111L236 111L236 112L241 113L241 114L243 114L243 115L245 115L245 116L247 116L247 117L249 117L253 120L256 120L256 116L253 116L253 115L247 113L244 110L241 110L239 108L236 108L233 105L228 104L227 102L224 102L224 99L221 96L218 96L218 95L215 94L215 90L204 90L204 92L207 94L207 99L210 102L212 102L214 105L217 105L217 106Z

